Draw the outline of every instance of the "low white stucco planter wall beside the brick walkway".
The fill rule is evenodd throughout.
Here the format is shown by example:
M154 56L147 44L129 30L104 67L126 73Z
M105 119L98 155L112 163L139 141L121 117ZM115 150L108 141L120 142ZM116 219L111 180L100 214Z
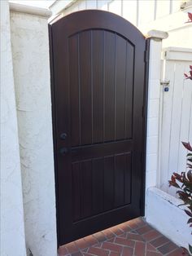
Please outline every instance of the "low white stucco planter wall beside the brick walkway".
M146 195L146 221L177 245L187 248L191 234L185 207L178 206L182 201L159 188L148 188Z

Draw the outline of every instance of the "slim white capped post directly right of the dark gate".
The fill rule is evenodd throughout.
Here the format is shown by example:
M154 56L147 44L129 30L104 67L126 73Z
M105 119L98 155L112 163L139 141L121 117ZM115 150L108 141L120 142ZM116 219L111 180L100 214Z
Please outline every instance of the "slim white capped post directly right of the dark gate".
M148 33L150 42L149 87L146 135L146 191L158 185L158 152L159 152L159 99L161 78L162 40L168 33L151 30ZM147 193L146 193L147 203ZM147 209L146 209L147 210ZM147 211L146 211L147 215Z

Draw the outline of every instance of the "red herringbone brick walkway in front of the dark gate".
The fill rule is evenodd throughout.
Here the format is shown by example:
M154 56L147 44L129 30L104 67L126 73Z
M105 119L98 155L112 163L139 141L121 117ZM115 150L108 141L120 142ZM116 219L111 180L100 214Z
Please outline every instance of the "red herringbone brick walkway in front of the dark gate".
M182 250L142 218L86 236L59 248L59 256L183 256Z

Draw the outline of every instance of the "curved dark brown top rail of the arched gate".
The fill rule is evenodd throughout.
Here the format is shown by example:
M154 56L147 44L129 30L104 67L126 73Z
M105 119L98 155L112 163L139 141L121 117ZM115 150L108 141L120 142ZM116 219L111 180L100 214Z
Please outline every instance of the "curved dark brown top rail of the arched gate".
M127 38L129 42L132 42L133 45L146 41L145 36L133 24L120 15L109 11L84 10L72 12L55 21L51 26L57 32L67 32L67 37L89 29L103 29L120 34L120 36Z

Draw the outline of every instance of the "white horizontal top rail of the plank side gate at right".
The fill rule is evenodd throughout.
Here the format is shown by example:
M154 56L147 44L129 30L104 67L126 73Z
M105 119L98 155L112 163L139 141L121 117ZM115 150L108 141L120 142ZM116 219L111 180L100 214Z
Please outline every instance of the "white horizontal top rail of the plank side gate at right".
M168 47L164 48L162 53L164 60L192 61L192 49L190 48Z

